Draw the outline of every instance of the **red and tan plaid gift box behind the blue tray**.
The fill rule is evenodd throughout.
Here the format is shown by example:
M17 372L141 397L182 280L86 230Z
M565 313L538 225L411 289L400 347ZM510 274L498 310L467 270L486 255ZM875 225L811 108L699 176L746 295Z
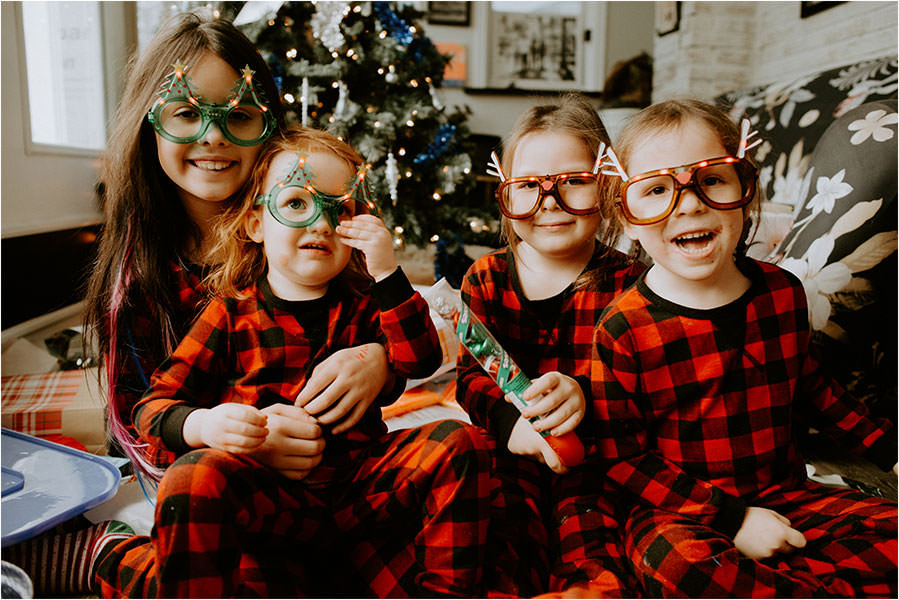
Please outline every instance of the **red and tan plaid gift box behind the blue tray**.
M105 445L97 369L51 371L2 378L2 425L34 436L65 435L88 452Z

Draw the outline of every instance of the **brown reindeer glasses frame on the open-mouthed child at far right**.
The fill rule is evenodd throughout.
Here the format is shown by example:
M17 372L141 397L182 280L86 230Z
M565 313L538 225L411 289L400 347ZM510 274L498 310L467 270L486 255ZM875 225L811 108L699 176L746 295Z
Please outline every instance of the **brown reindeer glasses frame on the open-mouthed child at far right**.
M728 203L720 203L711 200L708 196L705 195L705 192L702 191L702 187L696 181L696 172L705 167L719 165L719 164L734 164L740 165L741 168L746 169L743 174L748 177L748 186L746 191L743 193L743 197L740 198L737 202L728 202ZM686 183L681 183L678 179L677 175L680 173L690 173L690 178ZM651 177L658 176L668 176L674 181L674 194L672 196L671 202L668 205L668 208L665 211L657 216L651 217L647 219L639 219L630 212L627 207L627 189L634 183L639 183L640 181L644 181ZM739 169L737 169L737 176L741 175ZM656 223L661 223L665 219L671 216L671 214L675 211L678 204L680 204L681 195L685 189L690 189L696 194L696 197L699 198L699 201L708 206L709 208L713 208L715 210L736 210L738 208L743 208L755 198L757 192L757 181L758 181L758 167L756 167L752 162L750 162L746 158L735 158L733 156L719 156L717 158L707 158L704 160L696 161L694 163L689 163L686 165L680 165L677 167L666 167L664 169L656 169L654 171L647 171L646 173L640 173L639 175L634 175L633 177L628 178L621 188L618 190L618 199L615 204L618 206L625 220L632 225L655 225ZM744 181L740 180L741 184Z

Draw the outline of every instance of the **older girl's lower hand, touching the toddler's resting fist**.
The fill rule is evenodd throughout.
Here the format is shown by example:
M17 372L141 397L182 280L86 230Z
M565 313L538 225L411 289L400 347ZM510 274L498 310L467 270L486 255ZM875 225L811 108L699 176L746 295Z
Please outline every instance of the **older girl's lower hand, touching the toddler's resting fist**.
M268 417L269 434L253 458L289 479L305 478L322 460L321 427L298 406L272 404L261 412Z

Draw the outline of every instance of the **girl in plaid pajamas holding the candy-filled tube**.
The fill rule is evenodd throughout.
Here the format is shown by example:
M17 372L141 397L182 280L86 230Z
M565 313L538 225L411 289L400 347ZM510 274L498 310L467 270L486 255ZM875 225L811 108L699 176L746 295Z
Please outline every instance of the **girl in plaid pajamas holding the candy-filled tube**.
M524 416L541 416L532 426L460 351L456 398L496 446L501 487L489 569L498 578L488 589L498 595L635 593L609 486L589 457L566 473L535 431L562 435L585 420L593 327L643 269L613 249L619 230L601 204L596 169L598 148L608 141L580 95L522 115L502 165L494 165L509 246L475 261L462 282L472 313L534 380L526 398L535 401Z

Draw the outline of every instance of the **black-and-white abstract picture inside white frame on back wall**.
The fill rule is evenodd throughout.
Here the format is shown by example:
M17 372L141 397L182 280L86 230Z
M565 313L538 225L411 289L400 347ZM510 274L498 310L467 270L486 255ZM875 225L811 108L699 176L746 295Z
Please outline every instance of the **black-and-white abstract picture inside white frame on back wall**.
M490 88L579 89L583 22L577 16L493 11L488 41Z

